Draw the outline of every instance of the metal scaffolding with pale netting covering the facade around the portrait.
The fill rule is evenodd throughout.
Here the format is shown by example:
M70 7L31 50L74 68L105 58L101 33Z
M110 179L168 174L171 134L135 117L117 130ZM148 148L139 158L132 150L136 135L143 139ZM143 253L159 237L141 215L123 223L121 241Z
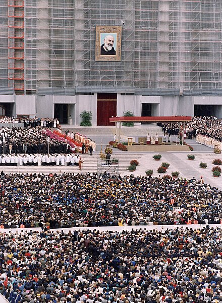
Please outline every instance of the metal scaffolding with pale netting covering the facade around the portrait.
M0 83L16 93L222 88L220 0L0 0L0 9ZM98 25L122 26L120 62L95 61Z

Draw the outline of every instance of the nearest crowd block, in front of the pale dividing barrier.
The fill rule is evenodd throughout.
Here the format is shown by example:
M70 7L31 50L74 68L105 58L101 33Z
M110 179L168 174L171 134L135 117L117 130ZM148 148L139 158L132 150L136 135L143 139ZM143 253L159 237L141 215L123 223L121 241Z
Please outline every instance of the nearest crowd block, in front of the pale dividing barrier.
M221 229L0 235L10 303L219 303Z

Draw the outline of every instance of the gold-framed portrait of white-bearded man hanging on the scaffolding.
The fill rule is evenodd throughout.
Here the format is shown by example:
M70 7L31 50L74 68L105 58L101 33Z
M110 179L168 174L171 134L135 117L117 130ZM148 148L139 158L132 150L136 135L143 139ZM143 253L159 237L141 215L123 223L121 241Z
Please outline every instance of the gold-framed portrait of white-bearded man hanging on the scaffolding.
M122 26L96 26L95 61L121 61Z

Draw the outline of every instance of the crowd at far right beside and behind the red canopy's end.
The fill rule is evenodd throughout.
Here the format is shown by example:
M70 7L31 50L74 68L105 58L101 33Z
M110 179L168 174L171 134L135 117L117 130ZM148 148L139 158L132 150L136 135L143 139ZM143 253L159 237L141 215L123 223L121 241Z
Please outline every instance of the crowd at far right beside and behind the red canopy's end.
M169 135L179 134L179 123L158 123L162 126L164 133ZM182 132L182 129L181 129ZM222 119L216 117L193 117L191 122L185 123L185 135L192 139L197 134L214 138L218 141L222 141Z

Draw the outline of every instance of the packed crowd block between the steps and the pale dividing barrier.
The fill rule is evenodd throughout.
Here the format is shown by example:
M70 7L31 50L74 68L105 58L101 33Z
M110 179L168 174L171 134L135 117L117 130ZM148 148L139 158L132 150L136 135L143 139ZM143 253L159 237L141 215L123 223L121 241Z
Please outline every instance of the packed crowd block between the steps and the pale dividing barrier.
M222 192L194 178L4 174L0 225L65 228L220 224Z

